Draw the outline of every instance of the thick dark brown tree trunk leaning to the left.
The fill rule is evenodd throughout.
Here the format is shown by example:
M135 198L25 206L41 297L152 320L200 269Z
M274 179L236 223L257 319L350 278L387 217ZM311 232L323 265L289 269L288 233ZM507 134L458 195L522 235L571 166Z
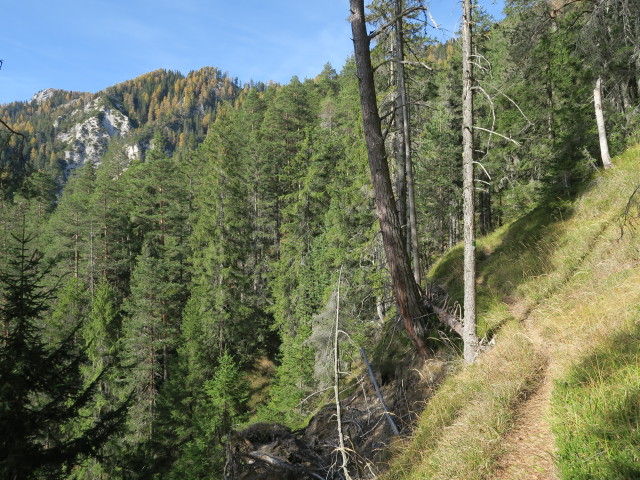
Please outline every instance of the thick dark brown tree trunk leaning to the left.
M400 316L418 354L426 358L433 353L425 340L425 325L431 312L422 301L420 289L411 271L391 188L389 165L376 101L369 51L370 38L364 16L364 0L350 0L350 7L362 120L382 242Z

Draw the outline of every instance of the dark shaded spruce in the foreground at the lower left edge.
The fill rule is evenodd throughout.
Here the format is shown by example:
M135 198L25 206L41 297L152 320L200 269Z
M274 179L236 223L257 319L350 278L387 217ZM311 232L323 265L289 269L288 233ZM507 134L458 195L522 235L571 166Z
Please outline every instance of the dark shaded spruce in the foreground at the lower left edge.
M43 287L49 270L31 249L25 223L14 241L0 272L0 473L8 479L55 477L104 444L126 405L78 424L96 386L84 384L83 355L74 348L81 319L62 341L45 344L41 322L53 295Z

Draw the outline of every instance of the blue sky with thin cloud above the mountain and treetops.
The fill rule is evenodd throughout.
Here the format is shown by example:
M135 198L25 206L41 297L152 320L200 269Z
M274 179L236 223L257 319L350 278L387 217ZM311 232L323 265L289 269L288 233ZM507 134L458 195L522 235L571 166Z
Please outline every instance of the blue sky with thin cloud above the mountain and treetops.
M499 14L502 1L481 2ZM431 2L455 30L459 1ZM96 92L165 68L286 83L352 53L348 0L18 0L2 7L0 103L45 88Z

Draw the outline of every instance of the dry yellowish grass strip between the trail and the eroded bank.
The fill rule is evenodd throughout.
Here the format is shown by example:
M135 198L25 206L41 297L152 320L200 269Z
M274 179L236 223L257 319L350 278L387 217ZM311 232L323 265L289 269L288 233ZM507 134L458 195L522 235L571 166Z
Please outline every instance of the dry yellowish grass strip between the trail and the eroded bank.
M536 383L543 362L516 322L500 335L494 350L440 387L411 440L396 446L402 453L386 478L475 479L490 470L512 406Z

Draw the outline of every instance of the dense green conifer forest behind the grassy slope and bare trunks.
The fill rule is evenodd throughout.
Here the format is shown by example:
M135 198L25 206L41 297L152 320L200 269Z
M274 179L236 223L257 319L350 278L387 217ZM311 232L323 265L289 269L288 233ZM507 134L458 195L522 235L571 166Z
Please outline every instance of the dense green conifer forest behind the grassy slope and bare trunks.
M398 4L374 2L367 22L403 248L425 289L462 240L462 55L429 37L418 2ZM601 168L596 85L611 154L638 140L639 12L518 0L496 22L474 6L479 235L562 205ZM221 478L232 428L300 428L332 401L337 307L343 378L361 348L383 376L415 353L355 69L243 87L212 68L156 71L1 107L3 477ZM133 130L67 178L56 129L98 97ZM148 141L141 158L129 136Z

